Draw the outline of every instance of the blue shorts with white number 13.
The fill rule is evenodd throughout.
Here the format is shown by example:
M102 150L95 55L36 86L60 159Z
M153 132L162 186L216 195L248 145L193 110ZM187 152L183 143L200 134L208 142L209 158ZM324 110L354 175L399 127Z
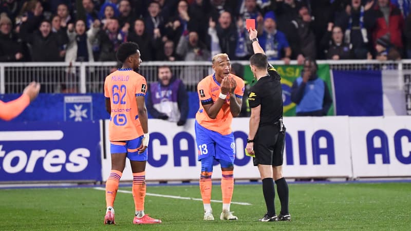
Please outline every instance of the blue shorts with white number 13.
M234 134L228 135L209 130L195 122L198 160L213 157L216 160L225 160L234 163L235 142Z

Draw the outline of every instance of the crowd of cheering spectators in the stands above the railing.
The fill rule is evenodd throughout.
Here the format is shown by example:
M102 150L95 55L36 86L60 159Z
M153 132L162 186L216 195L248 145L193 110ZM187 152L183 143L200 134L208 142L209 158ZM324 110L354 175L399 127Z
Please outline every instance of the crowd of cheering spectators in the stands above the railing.
M0 62L248 60L256 21L270 61L411 58L409 0L4 0Z

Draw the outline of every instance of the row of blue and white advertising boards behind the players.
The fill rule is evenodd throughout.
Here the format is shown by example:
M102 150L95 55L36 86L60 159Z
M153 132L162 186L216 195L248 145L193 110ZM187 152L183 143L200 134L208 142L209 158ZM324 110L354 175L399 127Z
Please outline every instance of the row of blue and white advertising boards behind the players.
M235 118L235 178L258 179L244 155L248 118ZM411 177L411 125L396 117L286 117L287 178ZM0 182L100 182L110 170L108 120L5 123ZM197 180L194 119L184 126L149 120L147 181ZM215 163L213 179L221 178ZM122 181L131 181L129 163Z

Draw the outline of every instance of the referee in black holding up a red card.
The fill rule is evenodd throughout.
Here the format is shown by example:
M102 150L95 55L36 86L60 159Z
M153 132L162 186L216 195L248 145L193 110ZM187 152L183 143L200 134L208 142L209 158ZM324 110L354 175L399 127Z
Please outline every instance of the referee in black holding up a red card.
M290 221L288 212L288 185L283 177L285 127L283 125L283 91L280 76L268 64L263 48L258 44L257 31L249 29L254 54L250 58L251 71L257 83L251 87L248 102L251 108L247 152L254 154L263 180L263 194L267 214L260 221ZM281 202L281 212L275 214L274 182Z

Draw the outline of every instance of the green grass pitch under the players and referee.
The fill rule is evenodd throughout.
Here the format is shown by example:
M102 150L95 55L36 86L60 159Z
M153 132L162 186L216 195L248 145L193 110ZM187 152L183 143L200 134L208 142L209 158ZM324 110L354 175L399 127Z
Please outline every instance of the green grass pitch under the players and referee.
M235 185L231 205L238 221L203 221L201 201L147 196L145 211L160 225L133 225L131 194L118 193L117 225L103 225L104 191L93 188L0 189L0 230L410 230L411 183L290 184L291 222L258 222L265 214L261 185ZM122 187L121 190L131 190ZM197 186L147 186L152 194L200 198ZM221 200L213 185L214 200ZM279 201L276 196L276 211ZM138 227L136 227L138 226Z

